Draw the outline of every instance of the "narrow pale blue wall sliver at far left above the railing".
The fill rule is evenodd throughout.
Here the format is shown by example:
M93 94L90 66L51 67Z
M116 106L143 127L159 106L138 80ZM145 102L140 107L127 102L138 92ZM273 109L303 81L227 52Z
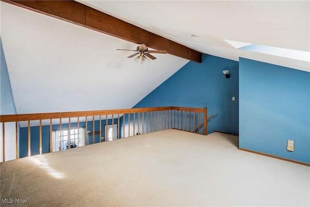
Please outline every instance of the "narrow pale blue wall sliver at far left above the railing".
M14 102L14 97L11 88L11 82L8 72L8 67L6 65L4 51L2 48L2 41L0 37L0 53L1 53L1 60L0 60L0 114L16 114L16 107Z

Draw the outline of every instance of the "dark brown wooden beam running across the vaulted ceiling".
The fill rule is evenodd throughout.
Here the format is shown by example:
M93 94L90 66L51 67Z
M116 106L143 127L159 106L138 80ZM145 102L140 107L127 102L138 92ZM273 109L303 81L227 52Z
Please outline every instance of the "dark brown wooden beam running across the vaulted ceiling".
M71 22L150 48L167 50L171 55L202 63L202 53L143 30L74 0L2 0L47 16Z

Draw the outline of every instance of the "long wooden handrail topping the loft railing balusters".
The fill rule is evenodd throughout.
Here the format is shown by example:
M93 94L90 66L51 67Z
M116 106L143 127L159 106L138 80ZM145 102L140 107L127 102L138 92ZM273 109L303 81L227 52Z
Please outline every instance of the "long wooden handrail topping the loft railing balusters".
M123 113L138 113L138 112L150 112L150 111L165 111L165 110L203 112L203 109L201 108L167 106L167 107L113 109L113 110L97 110L97 111L25 113L25 114L0 115L0 123L16 122L16 121L18 122L19 121L34 121L34 120L45 120L45 119L59 119L59 118L73 118L73 117L85 117L85 116L100 116L100 115L123 114Z

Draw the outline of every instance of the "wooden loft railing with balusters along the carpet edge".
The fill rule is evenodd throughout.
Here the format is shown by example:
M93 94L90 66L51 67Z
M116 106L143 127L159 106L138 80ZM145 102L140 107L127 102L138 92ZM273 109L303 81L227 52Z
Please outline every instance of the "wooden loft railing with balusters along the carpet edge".
M33 154L43 153L42 136L46 131L49 131L49 149L45 149L45 153L52 152L52 130L55 129L55 127L60 131L65 127L67 127L69 131L74 127L85 127L85 144L87 145L102 142L102 135L106 138L104 141L107 141L108 131L102 128L104 126L108 128L109 122L112 128L114 124L117 124L117 139L168 128L207 135L207 108L156 107L0 115L0 123L2 123L2 161L6 161L6 137L11 141L12 139L15 140L16 159L22 157L19 156L18 146L21 144L20 139L25 138L26 142L26 137L21 137L21 129L23 129L24 132L27 130L28 154L26 156L31 156ZM15 127L14 130L12 130L12 124ZM11 127L9 134L6 133L6 127L8 127L8 125ZM39 127L39 132L31 134L31 131L37 130L37 127ZM44 132L43 128L46 129ZM15 131L15 134L12 131ZM99 141L95 140L95 135L99 135ZM93 138L92 140L90 139L91 136ZM31 154L31 140L39 141L39 150L36 149L38 153ZM68 148L70 147L69 136Z

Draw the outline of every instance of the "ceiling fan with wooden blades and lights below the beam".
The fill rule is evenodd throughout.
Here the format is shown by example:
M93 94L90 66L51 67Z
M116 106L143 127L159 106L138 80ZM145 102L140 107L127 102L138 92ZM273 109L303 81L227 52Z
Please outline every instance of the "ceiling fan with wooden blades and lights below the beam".
M150 53L161 53L161 54L167 54L166 50L149 50L145 44L140 44L136 50L132 50L132 49L117 49L117 50L128 50L128 51L134 51L136 52L135 54L129 55L127 58L133 58L137 55L139 55L138 57L136 57L134 59L134 61L139 62L140 58L141 58L141 64L144 64L146 62L149 61L148 58L150 58L151 60L155 60L156 58L151 55Z

